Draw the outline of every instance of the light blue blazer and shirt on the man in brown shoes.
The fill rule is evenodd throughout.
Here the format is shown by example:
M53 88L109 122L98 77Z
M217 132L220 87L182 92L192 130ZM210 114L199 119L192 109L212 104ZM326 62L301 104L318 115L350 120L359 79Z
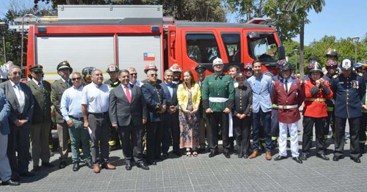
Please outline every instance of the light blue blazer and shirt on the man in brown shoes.
M247 83L252 89L252 112L258 113L260 109L263 112L271 111L274 88L272 78L263 74L260 78L253 75L247 80Z

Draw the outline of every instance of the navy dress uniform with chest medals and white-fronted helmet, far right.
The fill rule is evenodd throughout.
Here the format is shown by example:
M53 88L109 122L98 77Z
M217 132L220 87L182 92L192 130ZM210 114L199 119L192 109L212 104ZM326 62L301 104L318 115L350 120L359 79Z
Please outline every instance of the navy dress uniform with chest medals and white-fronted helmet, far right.
M340 68L352 70L352 59L342 61ZM349 77L343 74L335 76L331 84L335 99L335 150L334 161L344 154L345 124L348 119L350 130L350 156L355 162L359 160L359 127L362 116L361 100L365 94L365 82L362 77L351 73Z

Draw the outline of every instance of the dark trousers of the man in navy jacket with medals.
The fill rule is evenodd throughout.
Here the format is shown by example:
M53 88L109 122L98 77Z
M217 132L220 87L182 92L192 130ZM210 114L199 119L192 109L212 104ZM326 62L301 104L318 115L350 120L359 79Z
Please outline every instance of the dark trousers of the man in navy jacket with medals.
M334 156L342 156L344 154L345 142L345 126L347 118L335 116L335 150ZM348 118L349 134L350 134L350 156L359 157L359 128L360 117Z

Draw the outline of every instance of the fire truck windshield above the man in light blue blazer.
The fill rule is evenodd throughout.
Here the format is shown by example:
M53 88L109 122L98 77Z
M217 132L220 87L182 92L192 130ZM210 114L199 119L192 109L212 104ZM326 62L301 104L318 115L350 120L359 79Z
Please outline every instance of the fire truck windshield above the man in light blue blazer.
M277 44L273 34L260 34L257 38L248 38L249 55L265 65L276 63Z

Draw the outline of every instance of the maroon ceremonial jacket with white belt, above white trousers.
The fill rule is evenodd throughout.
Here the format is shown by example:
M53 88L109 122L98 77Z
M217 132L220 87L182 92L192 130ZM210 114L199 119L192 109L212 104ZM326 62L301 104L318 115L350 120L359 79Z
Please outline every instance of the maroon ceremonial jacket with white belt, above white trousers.
M285 92L284 83L282 80L278 80L275 82L275 86L273 89L273 99L274 104L279 105L278 121L281 123L290 124L295 123L299 119L301 119L298 107L302 105L304 96L300 81L298 79L290 78L288 81L291 81L292 84L288 88L287 93ZM292 109L283 109L282 107L280 107L291 105L297 105L297 107Z

